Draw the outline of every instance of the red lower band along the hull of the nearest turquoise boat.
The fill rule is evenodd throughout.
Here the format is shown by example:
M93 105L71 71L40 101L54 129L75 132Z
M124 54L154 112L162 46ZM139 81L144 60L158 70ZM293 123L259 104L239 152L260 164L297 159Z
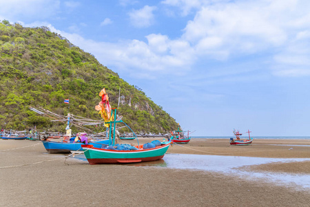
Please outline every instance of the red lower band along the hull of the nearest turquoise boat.
M137 163L142 161L155 161L162 159L164 155L157 157L141 157L141 158L131 158L131 159L87 159L91 165L96 164L127 164L127 163Z

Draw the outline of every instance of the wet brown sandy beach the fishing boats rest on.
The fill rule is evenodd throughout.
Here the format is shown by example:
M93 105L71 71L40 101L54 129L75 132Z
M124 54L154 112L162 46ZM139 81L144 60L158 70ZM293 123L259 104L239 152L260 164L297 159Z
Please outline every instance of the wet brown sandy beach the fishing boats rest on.
M163 138L141 138L140 144ZM136 141L127 141L127 143ZM229 146L226 139L192 139L167 155L310 158L310 140L256 139ZM51 155L41 141L0 139L0 206L309 206L309 188L208 170L152 164L95 165ZM165 162L165 157L162 161ZM309 175L310 161L243 167L251 172Z

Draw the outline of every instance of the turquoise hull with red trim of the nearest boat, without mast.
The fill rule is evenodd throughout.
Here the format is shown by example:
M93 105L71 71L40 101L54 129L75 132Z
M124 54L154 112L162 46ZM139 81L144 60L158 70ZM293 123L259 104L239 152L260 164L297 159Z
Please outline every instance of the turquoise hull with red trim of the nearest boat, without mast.
M106 150L83 145L84 155L91 164L127 164L162 159L169 148L170 142L152 149L139 150Z

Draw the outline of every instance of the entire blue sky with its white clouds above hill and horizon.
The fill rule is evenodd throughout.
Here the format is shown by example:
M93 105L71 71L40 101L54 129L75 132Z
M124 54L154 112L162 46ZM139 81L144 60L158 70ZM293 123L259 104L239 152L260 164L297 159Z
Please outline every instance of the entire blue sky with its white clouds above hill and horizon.
M0 0L142 88L193 136L309 136L310 1Z

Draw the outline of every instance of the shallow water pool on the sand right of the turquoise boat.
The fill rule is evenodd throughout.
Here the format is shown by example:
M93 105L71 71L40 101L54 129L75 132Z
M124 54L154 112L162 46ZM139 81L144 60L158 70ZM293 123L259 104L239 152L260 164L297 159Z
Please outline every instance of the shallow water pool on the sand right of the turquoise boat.
M83 157L82 157L83 156ZM84 155L76 156L78 159L85 159ZM296 162L310 161L310 158L264 158L264 157L238 157L218 155L187 155L187 154L166 154L158 161L141 162L137 164L124 164L125 166L142 166L158 168L175 168L183 170L204 170L220 172L225 175L234 175L245 179L263 179L272 181L275 184L289 185L310 189L310 174L289 174L285 172L249 172L238 168L269 164L274 162Z

